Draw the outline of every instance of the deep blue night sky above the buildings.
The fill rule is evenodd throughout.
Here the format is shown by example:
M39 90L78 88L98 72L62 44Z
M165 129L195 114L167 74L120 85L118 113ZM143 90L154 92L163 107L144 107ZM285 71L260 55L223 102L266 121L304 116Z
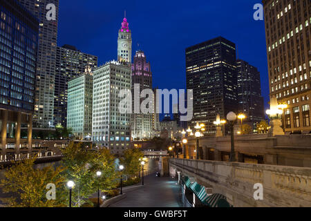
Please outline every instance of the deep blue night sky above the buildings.
M60 0L58 46L97 55L99 65L117 59L117 32L126 10L133 53L141 49L151 62L153 87L179 89L186 88L185 48L222 36L236 44L238 58L261 72L267 108L265 26L253 19L256 3L261 0Z

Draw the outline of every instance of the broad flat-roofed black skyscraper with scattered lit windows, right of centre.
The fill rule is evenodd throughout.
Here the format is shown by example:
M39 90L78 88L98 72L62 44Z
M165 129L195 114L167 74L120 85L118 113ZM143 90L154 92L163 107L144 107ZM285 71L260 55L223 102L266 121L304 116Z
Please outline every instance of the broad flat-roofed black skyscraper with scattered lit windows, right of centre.
M187 89L194 92L194 117L189 126L204 123L205 133L214 134L213 122L238 111L236 95L236 45L217 37L186 48Z

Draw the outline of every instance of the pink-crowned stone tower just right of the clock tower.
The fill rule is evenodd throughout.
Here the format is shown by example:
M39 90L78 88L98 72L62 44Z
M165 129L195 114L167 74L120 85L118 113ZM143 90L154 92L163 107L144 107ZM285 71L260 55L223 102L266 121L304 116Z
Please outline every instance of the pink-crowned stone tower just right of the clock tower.
M152 90L152 73L150 62L147 62L144 52L138 50L132 64L132 95L134 95L134 84L140 87L140 93L144 89ZM140 99L140 104L142 100ZM133 106L134 109L134 106ZM135 138L150 138L153 131L153 114L133 113L131 115L131 135Z

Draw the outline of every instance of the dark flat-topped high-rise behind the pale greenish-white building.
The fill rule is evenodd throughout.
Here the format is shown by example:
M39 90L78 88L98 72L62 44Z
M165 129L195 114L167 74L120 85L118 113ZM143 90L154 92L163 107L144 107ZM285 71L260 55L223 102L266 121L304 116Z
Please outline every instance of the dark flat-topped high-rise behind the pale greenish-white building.
M54 125L66 126L68 81L82 75L86 66L92 70L97 67L97 57L77 50L74 46L57 47L55 92L54 92Z

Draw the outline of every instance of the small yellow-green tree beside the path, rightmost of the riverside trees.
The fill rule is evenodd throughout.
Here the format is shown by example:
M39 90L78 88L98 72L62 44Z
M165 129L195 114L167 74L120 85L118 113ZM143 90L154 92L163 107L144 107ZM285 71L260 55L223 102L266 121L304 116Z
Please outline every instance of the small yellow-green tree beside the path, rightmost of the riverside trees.
M129 176L137 175L140 171L140 159L142 157L144 157L144 153L138 148L124 151L121 158L121 162L124 164L124 174Z

